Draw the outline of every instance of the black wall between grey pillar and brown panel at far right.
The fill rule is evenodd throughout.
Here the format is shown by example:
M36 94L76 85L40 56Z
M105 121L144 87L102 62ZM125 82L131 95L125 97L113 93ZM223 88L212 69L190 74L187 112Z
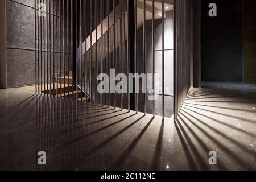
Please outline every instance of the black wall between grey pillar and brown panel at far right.
M242 82L242 0L201 2L202 80ZM217 5L217 17L208 15L212 2Z

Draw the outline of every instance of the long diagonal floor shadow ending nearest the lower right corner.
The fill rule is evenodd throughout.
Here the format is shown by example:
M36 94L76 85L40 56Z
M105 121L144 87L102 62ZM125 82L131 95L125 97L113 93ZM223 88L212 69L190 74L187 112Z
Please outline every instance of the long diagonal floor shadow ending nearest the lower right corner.
M180 113L182 114L182 113ZM220 141L218 141L217 139L213 138L212 135L208 134L204 129L202 129L200 126L198 126L195 122L193 122L191 119L189 119L187 116L185 116L184 114L182 114L186 119L188 119L188 121L190 121L198 130L200 130L203 134L205 134L209 139L211 139L213 141L213 143L217 144L221 150L225 151L226 154L229 154L230 157L232 157L234 160L236 160L238 163L242 164L244 167L249 167L250 165L246 162L244 162L240 156L234 154L234 152L232 150L230 150L228 147L224 146L224 144L222 144ZM197 121L200 121L199 119L197 119Z

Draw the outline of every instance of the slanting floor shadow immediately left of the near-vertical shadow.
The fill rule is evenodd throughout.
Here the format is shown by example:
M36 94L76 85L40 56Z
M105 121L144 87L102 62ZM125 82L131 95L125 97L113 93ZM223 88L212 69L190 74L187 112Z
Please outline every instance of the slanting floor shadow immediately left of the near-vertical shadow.
M122 164L126 161L127 158L129 158L129 155L131 154L131 151L133 151L133 148L137 145L139 140L142 138L148 127L151 125L154 118L151 118L150 121L148 121L147 125L141 130L141 132L138 134L138 136L131 142L131 144L127 147L127 150L123 152L123 154L119 157L117 162L113 165L115 169L118 169Z

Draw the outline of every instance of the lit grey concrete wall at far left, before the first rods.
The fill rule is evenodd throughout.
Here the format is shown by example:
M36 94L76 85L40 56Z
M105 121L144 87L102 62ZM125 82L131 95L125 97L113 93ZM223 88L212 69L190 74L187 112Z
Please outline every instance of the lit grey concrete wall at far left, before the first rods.
M35 83L34 1L7 0L7 86Z

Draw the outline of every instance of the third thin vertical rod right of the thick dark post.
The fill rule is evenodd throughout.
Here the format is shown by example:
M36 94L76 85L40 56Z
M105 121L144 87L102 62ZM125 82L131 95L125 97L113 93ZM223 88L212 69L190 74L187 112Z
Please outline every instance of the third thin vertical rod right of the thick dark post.
M155 0L152 1L153 116L155 117Z

